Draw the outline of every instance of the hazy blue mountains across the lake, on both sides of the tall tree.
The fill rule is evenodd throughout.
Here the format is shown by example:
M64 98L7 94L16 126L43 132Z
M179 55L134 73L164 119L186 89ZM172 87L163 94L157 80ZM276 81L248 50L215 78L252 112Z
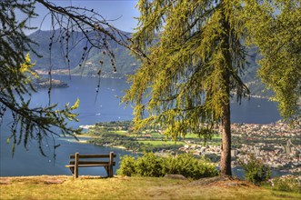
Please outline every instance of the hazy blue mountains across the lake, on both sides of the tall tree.
M123 32L125 35L131 35L131 33ZM85 46L87 44L86 39L82 38L81 32L73 32L72 36L69 37L68 46L69 54L68 58L65 57L66 45L62 45L62 39L58 37L59 31L41 31L38 30L29 37L39 45L35 45L34 48L39 55L31 54L32 61L35 61L35 70L43 74L47 73L50 65L52 65L53 74L69 74L71 75L88 75L96 76L99 69L101 69L101 75L103 77L115 77L122 78L125 75L134 74L135 70L140 66L139 62L135 59L130 51L124 46L116 44L114 41L110 41L109 45L115 54L115 65L111 64L110 58L103 54L103 51L98 49L92 49L87 56L85 66L80 66L82 55L85 52ZM92 35L92 38L96 35ZM51 38L53 37L53 42ZM51 53L49 46L51 44ZM65 43L66 44L66 43ZM72 48L72 46L76 46ZM256 76L256 70L258 65L256 61L260 59L260 55L257 53L257 48L253 47L248 49L246 68L244 75L241 75L244 83L250 88L251 95L269 97L273 95L273 92L265 89L259 78ZM50 57L52 59L50 59ZM67 65L69 60L69 65ZM51 61L51 62L50 62ZM100 64L100 61L103 65ZM69 71L70 70L70 71Z

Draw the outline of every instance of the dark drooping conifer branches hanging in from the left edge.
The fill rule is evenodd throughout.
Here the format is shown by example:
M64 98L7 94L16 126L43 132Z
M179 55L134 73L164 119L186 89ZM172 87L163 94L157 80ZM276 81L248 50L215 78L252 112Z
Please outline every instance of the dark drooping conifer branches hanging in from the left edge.
M53 34L50 36L49 51L51 54L55 43L61 44L61 53L65 56L65 62L70 67L69 53L81 41L86 41L83 48L83 55L78 61L79 65L85 65L91 49L96 48L111 58L113 70L115 71L115 55L110 48L113 41L122 45L136 55L146 57L142 51L131 46L129 35L125 35L114 26L110 25L102 15L93 9L75 6L56 6L46 0L2 0L0 1L0 122L7 111L12 113L12 123L10 124L11 135L7 142L10 142L15 151L15 145L24 144L25 148L33 140L39 145L42 155L44 153L44 143L47 138L59 135L54 128L59 129L63 135L80 133L80 129L69 127L67 120L75 120L75 105L65 105L64 109L57 109L56 105L45 107L33 107L30 105L30 98L35 92L35 87L30 82L31 64L27 52L35 55L35 46L25 30L34 30L36 27L28 25L28 21L37 16L35 14L35 4L44 5L49 10L52 19ZM15 13L25 15L23 20L19 20ZM81 34L75 35L75 32ZM52 65L52 64L50 64ZM99 71L100 72L100 71ZM51 68L49 71L51 83ZM50 88L51 89L51 88ZM50 94L49 89L49 94ZM98 88L99 89L99 88ZM54 144L54 149L58 145Z

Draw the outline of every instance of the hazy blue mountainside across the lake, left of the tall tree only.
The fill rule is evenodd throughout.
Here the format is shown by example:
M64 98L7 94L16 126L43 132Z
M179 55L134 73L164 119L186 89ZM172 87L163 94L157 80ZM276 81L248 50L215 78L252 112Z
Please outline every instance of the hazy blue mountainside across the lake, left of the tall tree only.
M125 35L130 33L123 32ZM93 38L95 35L91 35ZM124 46L116 44L114 41L110 41L109 45L115 54L117 72L114 72L114 67L111 65L110 58L103 54L103 51L98 49L92 49L87 56L85 66L80 66L80 62L85 52L85 46L89 47L86 39L83 39L81 32L74 32L68 40L68 57L65 57L67 51L67 45L65 38L59 38L59 31L41 31L38 30L29 37L35 41L35 51L39 57L35 54L31 54L32 61L35 62L35 70L37 71L48 71L50 65L52 70L58 70L60 73L69 73L71 70L72 75L97 75L99 69L102 71L102 75L106 77L123 77L128 74L133 74L135 69L138 67L138 62L135 60L133 55L130 55L130 51ZM53 41L51 38L53 37ZM64 45L62 45L64 43ZM51 52L49 50L51 44ZM51 59L50 59L51 57ZM67 60L69 60L69 65ZM100 65L100 62L103 65ZM67 69L67 72L65 72ZM42 72L43 74L43 72Z

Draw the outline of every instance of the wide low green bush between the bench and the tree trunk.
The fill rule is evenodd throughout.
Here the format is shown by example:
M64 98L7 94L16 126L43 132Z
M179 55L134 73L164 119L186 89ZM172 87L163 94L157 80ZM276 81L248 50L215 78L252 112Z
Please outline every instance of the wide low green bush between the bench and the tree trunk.
M184 175L198 179L218 175L216 166L205 158L196 159L193 155L169 155L167 157L156 157L153 153L135 159L130 155L122 157L118 175L141 175L141 176L163 176Z

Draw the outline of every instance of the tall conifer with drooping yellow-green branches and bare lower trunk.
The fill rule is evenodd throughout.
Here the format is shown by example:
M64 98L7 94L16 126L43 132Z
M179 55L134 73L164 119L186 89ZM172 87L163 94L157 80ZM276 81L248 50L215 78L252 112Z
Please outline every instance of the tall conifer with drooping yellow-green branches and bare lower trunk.
M135 103L135 127L159 124L173 139L189 132L210 138L221 123L220 170L231 175L230 99L249 94L239 76L246 64L243 5L142 0L137 6L134 41L148 54L124 97Z

